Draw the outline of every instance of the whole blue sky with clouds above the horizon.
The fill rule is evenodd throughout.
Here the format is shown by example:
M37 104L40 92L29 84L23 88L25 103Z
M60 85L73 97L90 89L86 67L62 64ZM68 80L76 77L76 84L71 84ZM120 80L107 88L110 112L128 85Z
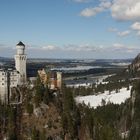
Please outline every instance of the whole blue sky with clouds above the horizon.
M140 52L139 0L0 0L0 56L126 59Z

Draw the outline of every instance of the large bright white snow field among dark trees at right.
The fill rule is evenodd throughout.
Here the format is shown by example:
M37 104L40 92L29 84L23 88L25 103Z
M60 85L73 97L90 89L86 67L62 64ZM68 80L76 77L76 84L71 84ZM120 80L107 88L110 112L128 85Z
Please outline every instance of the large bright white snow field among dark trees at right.
M106 104L109 102L114 104L121 104L125 102L126 99L130 98L130 95L131 90L122 88L119 93L115 93L115 91L113 91L109 94L109 91L105 91L103 94L78 96L75 99L77 103L84 102L86 105L90 104L91 107L96 108L97 106L102 106L102 100L105 100Z

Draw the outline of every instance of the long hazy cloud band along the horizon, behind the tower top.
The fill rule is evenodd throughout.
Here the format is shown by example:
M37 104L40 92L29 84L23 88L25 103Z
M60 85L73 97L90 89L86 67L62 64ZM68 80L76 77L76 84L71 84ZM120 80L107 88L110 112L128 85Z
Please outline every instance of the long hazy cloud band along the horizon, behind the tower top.
M28 58L130 58L135 57L138 52L140 52L139 47L121 43L114 43L110 46L93 44L26 45ZM2 44L0 47L0 56L13 58L15 53L14 45Z

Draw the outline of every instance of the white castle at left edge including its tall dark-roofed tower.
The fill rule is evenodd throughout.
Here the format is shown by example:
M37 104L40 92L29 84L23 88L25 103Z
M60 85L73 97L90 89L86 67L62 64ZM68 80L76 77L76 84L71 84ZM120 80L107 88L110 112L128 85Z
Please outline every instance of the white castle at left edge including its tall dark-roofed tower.
M16 50L15 69L0 69L0 99L2 102L9 102L12 88L26 83L25 45L19 42L16 45Z

